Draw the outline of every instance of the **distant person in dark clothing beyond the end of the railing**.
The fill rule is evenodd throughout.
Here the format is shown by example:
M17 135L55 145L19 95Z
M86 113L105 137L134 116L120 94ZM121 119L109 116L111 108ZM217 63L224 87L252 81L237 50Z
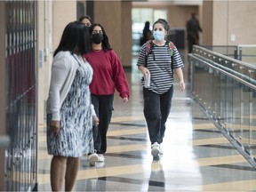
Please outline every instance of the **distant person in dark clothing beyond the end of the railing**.
M199 31L203 32L197 20L196 13L191 14L191 19L187 21L187 40L188 40L188 53L192 52L193 44L199 44Z

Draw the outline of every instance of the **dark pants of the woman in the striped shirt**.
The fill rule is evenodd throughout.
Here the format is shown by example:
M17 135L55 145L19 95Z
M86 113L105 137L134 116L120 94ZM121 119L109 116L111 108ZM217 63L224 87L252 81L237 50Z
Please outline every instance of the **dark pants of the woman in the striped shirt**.
M164 94L148 91L143 87L144 116L148 124L148 134L151 144L162 143L165 123L172 106L173 85Z

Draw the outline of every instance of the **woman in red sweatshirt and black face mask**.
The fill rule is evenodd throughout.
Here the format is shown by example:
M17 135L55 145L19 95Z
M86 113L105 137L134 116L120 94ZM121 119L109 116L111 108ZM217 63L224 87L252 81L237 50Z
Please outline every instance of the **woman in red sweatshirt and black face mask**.
M89 28L92 38L92 52L84 54L84 58L93 69L90 91L92 104L100 123L93 126L94 149L98 154L98 162L104 162L107 151L107 132L110 124L115 90L127 102L130 88L121 61L108 43L105 29L99 23Z

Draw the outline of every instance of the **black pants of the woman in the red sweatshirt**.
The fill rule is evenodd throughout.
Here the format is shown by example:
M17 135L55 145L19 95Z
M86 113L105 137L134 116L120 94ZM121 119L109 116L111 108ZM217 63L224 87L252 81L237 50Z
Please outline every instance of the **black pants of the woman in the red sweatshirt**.
M107 150L107 132L110 124L113 108L114 94L94 95L92 94L92 104L96 115L99 117L98 126L93 126L94 149L98 154L105 154Z

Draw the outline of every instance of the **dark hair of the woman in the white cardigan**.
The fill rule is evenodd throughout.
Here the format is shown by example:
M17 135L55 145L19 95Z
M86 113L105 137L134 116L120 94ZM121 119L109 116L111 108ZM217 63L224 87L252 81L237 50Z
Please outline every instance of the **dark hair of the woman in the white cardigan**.
M60 44L53 56L60 51L69 51L71 54L84 55L92 49L88 27L80 21L69 22L64 28Z

